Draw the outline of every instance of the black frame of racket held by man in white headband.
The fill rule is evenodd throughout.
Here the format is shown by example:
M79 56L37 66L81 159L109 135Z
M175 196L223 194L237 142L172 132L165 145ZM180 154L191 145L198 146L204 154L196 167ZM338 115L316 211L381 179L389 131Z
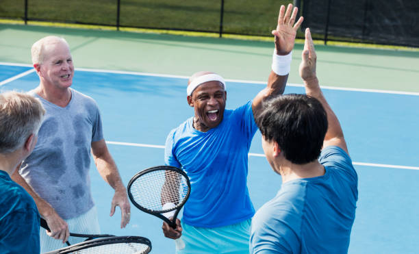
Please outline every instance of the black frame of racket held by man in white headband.
M134 196L131 194L131 186L136 181L136 179L138 179L138 177L141 177L142 175L146 175L146 174L151 173L153 171L160 171L160 170L164 170L164 171L170 170L170 171L174 171L176 173L179 173L179 174L183 175L183 177L185 177L185 179L186 179L186 184L188 185L188 192L186 193L186 196L183 199L183 201L181 203L177 204L172 209L165 209L165 210L162 210L162 211L154 211L154 210L142 207L141 205L138 205L138 203L134 199ZM188 201L188 198L189 198L189 195L190 195L190 181L189 181L188 175L186 175L186 173L183 170L181 170L180 168L177 168L175 166L153 166L151 168L144 169L144 170L140 171L139 173L137 173L136 175L134 175L134 177L132 177L131 180L129 180L129 183L128 183L128 186L127 186L127 192L128 192L129 200L131 200L131 203L135 207L140 209L142 212L146 212L147 214L152 214L154 216L157 216L157 218L160 218L160 219L164 220L168 225L170 225L170 227L172 227L173 229L176 229L176 227L177 227L177 225L176 225L177 215L179 214L183 205L185 205L186 201ZM175 210L175 214L173 214L172 220L169 220L168 218L166 218L166 216L162 215L166 212L170 212L170 211L174 211L174 210Z

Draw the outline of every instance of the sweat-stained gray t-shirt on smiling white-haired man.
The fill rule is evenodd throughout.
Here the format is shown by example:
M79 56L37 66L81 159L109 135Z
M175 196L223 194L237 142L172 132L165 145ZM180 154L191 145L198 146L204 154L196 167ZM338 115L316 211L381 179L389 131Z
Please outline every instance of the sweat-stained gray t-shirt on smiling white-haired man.
M90 192L91 143L103 140L96 102L71 89L71 101L59 107L31 90L47 113L34 151L19 173L64 219L88 212L94 203Z

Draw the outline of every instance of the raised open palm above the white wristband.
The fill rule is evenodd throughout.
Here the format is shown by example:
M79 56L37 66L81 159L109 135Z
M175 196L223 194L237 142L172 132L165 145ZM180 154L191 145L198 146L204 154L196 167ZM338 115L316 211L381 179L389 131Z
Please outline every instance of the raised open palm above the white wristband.
M288 53L292 51L294 48L296 31L299 29L301 23L303 23L303 17L301 16L294 24L298 8L294 8L292 14L291 10L291 3L288 5L286 12L285 6L281 5L277 29L272 30L272 35L275 36L275 49L277 49L278 55L288 55Z

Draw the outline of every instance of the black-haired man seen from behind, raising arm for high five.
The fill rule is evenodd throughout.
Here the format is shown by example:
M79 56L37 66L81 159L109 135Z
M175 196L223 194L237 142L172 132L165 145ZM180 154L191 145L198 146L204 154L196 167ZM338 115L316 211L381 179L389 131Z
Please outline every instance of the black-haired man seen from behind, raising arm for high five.
M266 99L255 116L266 159L282 186L253 217L251 253L348 252L357 173L338 118L320 90L309 29L299 72L307 95Z

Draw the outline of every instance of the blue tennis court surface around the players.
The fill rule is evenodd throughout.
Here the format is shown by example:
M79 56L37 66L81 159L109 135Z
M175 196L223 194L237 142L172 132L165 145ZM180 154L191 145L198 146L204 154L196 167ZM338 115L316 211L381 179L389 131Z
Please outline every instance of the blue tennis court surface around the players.
M0 90L38 86L36 73L11 79L29 66L0 64ZM220 73L223 75L223 73ZM8 80L8 81L5 81ZM184 77L76 71L73 88L97 101L105 138L125 185L138 171L164 164L166 135L193 110L186 103ZM227 107L253 99L265 85L227 81ZM285 93L303 93L288 86ZM418 94L324 89L340 119L359 176L359 201L349 253L417 253L419 249ZM275 196L281 177L270 169L259 132L249 157L248 187L255 209ZM92 193L102 233L144 236L152 253L174 253L162 221L131 206L131 223L119 229L120 212L110 218L112 189L92 164Z

